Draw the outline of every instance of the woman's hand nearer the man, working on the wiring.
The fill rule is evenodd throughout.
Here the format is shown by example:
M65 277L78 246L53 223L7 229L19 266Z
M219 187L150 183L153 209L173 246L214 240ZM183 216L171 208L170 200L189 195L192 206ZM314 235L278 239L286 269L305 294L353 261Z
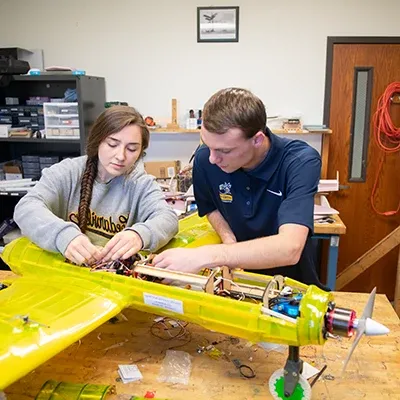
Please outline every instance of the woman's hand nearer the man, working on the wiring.
M117 233L105 246L100 254L100 259L104 262L118 259L125 260L143 247L142 238L138 233L127 229Z

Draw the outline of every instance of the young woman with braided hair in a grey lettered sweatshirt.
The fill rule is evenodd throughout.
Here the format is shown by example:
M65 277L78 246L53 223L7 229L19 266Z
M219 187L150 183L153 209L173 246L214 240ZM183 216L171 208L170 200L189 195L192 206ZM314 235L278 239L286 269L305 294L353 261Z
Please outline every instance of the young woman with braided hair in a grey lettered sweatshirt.
M14 219L38 246L75 264L155 251L177 233L178 219L142 156L149 131L131 107L114 106L94 123L86 156L43 170Z

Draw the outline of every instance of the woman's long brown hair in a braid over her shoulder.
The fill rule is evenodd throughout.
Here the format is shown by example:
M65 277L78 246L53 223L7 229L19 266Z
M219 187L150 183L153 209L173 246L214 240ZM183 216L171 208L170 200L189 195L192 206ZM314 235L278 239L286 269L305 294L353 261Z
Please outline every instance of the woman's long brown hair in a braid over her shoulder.
M142 132L142 154L149 145L149 130L143 117L133 107L112 106L107 108L96 119L86 143L87 161L81 179L81 193L78 208L79 228L86 232L90 216L90 202L92 200L93 183L97 176L98 151L100 144L113 133L121 131L128 125L136 125Z

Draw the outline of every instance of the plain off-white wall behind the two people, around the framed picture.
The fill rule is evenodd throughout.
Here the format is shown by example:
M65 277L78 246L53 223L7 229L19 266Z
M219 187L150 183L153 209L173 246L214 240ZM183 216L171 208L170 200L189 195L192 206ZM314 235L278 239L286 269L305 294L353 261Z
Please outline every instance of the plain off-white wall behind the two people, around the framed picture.
M182 117L216 90L242 86L270 115L321 123L327 36L400 35L399 0L220 0L214 5L240 6L239 43L197 43L196 7L207 5L0 0L0 46L42 48L46 66L104 76L108 100L128 101L160 122L170 118L172 97ZM149 155L154 141L167 140L155 138Z

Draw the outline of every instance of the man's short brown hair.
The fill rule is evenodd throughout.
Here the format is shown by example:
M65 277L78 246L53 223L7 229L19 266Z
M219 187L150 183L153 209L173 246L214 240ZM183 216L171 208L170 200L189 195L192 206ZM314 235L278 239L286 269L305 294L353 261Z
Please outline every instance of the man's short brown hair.
M239 128L246 138L251 138L259 131L266 134L266 125L263 102L246 89L222 89L204 106L203 126L212 133L223 134L231 128Z

